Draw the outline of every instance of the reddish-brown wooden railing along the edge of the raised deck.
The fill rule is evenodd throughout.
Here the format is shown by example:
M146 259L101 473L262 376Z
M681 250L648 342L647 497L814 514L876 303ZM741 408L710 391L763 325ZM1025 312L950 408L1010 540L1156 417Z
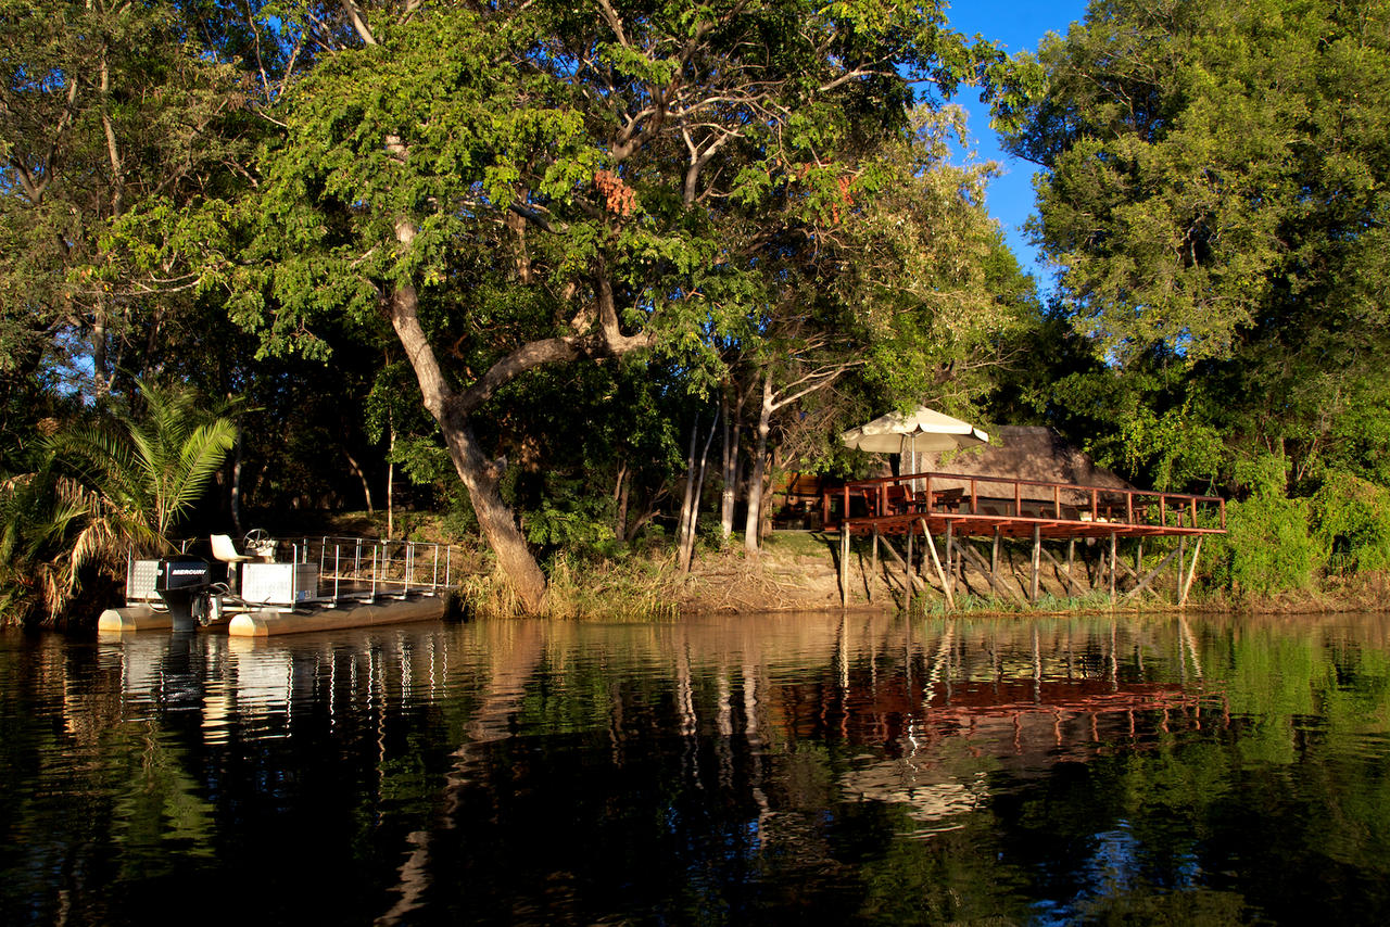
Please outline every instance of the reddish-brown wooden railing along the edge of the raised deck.
M821 493L820 514L827 528L847 518L910 514L1226 530L1226 500L1219 496L952 473L847 482Z

